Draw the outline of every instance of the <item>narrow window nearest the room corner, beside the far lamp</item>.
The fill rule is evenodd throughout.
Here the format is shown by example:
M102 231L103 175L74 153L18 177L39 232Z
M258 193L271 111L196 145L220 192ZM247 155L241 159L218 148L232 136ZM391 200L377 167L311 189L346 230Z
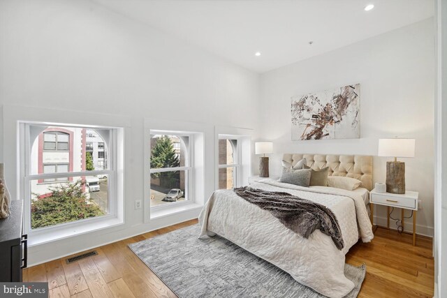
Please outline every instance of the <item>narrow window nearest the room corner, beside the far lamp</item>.
M220 138L219 154L219 189L237 187L238 154L237 139Z

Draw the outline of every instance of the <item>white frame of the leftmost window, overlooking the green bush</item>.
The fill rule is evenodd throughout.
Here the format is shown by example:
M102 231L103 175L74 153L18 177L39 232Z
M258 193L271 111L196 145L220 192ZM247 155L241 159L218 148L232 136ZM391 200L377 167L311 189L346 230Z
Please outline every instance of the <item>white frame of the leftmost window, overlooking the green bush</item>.
M108 162L108 169L106 170L91 170L91 171L77 171L77 172L55 172L55 173L41 173L41 174L31 174L31 147L34 140L30 140L30 127L31 126L56 126L58 128L91 128L100 130L110 131L110 140L108 142L108 156L111 156ZM98 223L102 221L108 221L112 218L117 218L118 214L118 202L119 200L119 177L118 177L118 129L112 126L88 126L83 124L57 124L57 123L47 123L47 122L35 122L35 121L19 121L20 129L20 143L23 144L23 150L20 151L20 193L24 200L24 232L26 234L45 234L57 232L58 230L65 230L67 228L73 228L76 225L82 225L84 223ZM45 151L45 150L44 150ZM57 150L51 150L57 151ZM69 150L68 150L69 151ZM87 153L87 148L86 148ZM45 181L45 179L60 179L66 178L70 179L73 177L82 176L96 176L96 175L108 175L108 214L104 216L96 216L91 218L84 218L78 221L71 221L68 223L59 223L57 225L51 225L48 227L32 229L31 228L31 181ZM57 184L64 183L66 181L48 181L43 182L43 184ZM96 228L91 228L91 230L96 230Z

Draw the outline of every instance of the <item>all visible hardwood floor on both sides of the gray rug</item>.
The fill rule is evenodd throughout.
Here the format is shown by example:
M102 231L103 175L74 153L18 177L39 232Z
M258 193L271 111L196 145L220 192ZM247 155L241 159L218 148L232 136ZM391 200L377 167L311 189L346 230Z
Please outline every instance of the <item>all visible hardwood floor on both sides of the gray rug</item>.
M96 248L98 255L66 264L66 258L24 269L24 281L47 281L50 297L176 297L127 247L158 234L196 224L179 223ZM372 243L359 242L346 255L351 265L367 265L358 297L433 297L432 239L377 228Z

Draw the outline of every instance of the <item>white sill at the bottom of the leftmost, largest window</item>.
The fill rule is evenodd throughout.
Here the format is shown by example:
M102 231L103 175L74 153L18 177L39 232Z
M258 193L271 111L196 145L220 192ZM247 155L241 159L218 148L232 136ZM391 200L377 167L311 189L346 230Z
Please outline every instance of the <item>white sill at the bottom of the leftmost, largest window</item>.
M84 221L82 223L75 223L70 226L61 226L48 228L43 230L36 230L29 232L28 246L36 246L39 244L45 244L60 239L66 239L80 234L86 234L105 228L115 227L122 225L124 222L117 217L101 218L97 221Z

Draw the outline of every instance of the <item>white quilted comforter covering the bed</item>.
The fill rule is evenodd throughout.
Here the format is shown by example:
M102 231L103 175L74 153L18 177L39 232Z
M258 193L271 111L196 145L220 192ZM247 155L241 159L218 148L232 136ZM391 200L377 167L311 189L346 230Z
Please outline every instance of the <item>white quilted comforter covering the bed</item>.
M285 191L329 207L339 221L344 249L339 251L320 230L309 239L298 236L269 211L230 190L215 191L205 204L199 216L200 237L219 234L328 297L344 297L351 292L354 284L344 276L344 255L358 241L359 232L364 242L374 237L361 196L338 188L304 188L271 179L251 186Z

